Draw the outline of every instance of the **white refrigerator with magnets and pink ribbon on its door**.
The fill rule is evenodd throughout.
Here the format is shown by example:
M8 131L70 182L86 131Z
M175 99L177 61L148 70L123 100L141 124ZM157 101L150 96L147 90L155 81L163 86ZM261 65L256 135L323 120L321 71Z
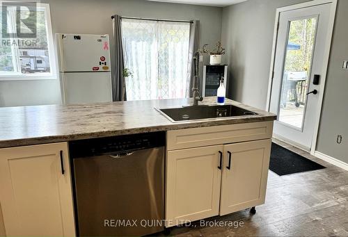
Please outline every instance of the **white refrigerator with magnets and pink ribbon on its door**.
M109 35L56 34L63 104L112 101Z

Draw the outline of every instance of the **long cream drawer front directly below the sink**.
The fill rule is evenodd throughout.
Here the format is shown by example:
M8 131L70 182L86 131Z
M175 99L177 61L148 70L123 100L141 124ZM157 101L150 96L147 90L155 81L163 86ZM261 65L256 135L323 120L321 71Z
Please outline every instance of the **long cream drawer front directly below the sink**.
M180 129L167 132L167 149L203 147L271 138L273 121Z

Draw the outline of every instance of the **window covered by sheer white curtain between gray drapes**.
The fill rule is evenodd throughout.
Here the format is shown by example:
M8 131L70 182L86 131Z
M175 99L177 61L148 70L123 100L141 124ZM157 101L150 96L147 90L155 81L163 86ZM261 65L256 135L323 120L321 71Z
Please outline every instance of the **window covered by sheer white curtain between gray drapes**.
M127 100L186 97L188 22L122 19Z

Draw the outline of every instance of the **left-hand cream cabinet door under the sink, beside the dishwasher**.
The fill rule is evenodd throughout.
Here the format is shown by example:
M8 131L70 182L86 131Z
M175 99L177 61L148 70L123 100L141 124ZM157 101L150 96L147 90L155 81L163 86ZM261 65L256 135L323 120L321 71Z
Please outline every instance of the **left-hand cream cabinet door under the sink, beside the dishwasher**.
M168 152L166 226L219 215L223 145Z

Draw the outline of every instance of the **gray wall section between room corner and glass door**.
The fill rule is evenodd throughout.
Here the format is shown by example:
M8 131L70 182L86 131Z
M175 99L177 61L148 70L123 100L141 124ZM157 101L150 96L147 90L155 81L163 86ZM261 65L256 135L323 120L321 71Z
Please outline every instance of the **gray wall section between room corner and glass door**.
M230 65L228 96L265 109L276 8L304 0L249 0L223 8L221 41Z

